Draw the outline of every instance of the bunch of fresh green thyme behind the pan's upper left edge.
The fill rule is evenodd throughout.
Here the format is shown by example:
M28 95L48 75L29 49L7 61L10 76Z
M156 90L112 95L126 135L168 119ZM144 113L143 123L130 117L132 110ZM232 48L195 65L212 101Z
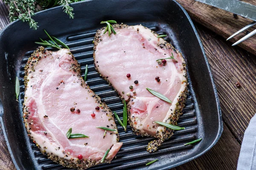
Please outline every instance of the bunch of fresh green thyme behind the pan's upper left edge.
M37 22L32 19L35 12L55 6L63 6L63 11L67 13L70 18L74 18L73 8L70 3L81 0L3 0L6 6L9 7L9 19L15 21L17 19L22 22L29 23L30 28L37 29Z

